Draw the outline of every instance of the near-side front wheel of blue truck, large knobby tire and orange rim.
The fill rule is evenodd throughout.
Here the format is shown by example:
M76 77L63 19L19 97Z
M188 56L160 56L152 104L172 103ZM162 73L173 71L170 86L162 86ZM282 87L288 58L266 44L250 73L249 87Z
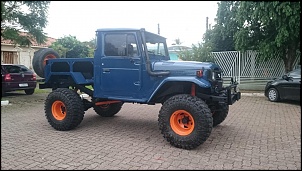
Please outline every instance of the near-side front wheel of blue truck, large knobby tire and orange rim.
M163 103L158 115L158 125L171 145L189 150L208 139L213 128L213 118L203 100L180 94Z

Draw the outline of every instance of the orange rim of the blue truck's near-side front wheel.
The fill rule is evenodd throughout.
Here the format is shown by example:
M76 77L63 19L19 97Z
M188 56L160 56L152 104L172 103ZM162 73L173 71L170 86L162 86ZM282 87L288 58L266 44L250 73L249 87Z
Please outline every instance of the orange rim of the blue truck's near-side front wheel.
M194 130L194 119L185 110L177 110L170 117L172 130L178 135L189 135Z

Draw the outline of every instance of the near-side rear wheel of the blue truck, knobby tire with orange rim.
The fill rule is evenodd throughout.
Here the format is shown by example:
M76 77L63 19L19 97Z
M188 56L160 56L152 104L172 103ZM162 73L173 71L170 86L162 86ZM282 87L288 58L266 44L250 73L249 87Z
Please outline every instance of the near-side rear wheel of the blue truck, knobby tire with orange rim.
M44 110L49 124L59 131L74 129L84 118L84 106L80 96L67 88L58 88L49 93Z

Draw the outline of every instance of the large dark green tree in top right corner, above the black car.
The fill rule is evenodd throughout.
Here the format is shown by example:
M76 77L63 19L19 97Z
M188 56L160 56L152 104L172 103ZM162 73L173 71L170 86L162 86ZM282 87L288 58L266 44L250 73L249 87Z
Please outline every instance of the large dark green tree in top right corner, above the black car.
M237 50L257 50L264 61L281 58L285 72L293 69L300 52L300 2L240 1L234 13L240 24Z

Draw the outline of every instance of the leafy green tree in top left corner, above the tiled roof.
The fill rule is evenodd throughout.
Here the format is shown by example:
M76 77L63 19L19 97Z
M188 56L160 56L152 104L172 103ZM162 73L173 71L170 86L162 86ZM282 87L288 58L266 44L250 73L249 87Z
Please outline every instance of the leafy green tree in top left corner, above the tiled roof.
M44 43L47 9L50 1L1 1L1 37L15 44ZM28 32L20 35L19 32Z

